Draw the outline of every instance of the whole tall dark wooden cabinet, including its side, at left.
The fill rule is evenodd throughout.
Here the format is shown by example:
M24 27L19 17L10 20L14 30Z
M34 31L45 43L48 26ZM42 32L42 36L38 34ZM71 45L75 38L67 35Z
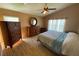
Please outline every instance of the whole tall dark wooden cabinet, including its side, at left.
M5 30L4 34L8 37L7 39L7 45L12 47L14 43L16 43L18 40L21 39L21 27L20 22L7 22L2 21ZM4 36L3 34L3 36Z

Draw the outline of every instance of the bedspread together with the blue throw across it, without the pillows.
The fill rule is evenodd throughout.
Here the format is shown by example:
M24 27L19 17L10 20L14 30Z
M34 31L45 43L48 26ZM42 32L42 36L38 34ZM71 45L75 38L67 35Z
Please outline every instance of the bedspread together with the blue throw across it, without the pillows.
M49 49L60 54L62 44L67 36L65 32L47 31L39 35L38 39Z

